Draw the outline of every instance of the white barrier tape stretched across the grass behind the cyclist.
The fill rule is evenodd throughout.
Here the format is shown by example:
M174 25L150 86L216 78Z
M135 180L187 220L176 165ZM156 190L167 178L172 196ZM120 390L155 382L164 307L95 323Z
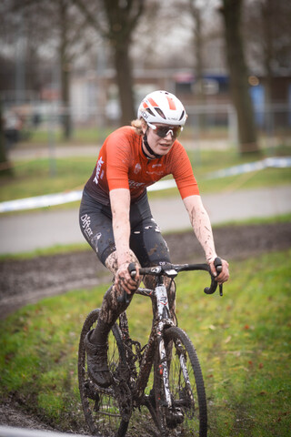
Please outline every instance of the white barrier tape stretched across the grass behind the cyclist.
M261 161L242 164L231 168L224 168L215 171L206 176L207 179L226 178L228 176L236 176L243 173L248 173L264 168L289 168L291 167L291 157L287 158L266 158ZM158 191L162 189L176 188L174 179L160 180L155 185L148 187L148 191ZM20 211L25 209L47 208L55 205L79 201L82 198L82 190L69 191L67 193L47 194L44 196L36 196L34 198L19 198L16 200L8 200L0 203L1 212Z

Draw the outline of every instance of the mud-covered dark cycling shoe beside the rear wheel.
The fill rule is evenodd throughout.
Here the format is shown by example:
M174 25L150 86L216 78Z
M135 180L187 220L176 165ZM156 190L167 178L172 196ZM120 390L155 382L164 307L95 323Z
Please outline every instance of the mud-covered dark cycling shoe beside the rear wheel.
M108 369L107 351L108 344L95 344L90 341L93 330L85 336L85 351L87 353L88 374L92 381L100 387L109 387L113 379Z

